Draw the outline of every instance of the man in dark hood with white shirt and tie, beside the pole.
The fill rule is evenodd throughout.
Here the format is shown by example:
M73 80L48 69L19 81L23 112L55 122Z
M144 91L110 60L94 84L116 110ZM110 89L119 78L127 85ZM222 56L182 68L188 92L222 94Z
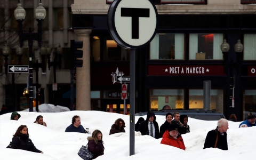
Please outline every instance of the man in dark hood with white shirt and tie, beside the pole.
M159 126L153 111L148 111L147 119L140 123L138 131L140 131L141 135L150 135L155 139L161 138L159 135Z

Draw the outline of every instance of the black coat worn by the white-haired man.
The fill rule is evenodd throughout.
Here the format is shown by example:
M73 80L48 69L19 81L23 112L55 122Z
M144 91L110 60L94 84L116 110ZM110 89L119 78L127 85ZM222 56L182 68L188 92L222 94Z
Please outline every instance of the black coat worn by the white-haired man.
M217 127L218 128L218 127ZM224 135L221 135L218 129L216 129L218 132L218 141L217 141L217 147L222 150L228 150L228 142L227 142L227 133L223 132ZM207 133L205 142L204 142L204 149L205 148L214 148L215 141L217 138L217 134L215 130L212 130Z

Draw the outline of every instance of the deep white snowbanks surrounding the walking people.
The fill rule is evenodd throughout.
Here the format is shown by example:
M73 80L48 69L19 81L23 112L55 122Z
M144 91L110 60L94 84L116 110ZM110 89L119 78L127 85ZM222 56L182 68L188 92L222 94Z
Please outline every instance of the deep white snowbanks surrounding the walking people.
M103 134L105 154L97 159L255 159L256 127L238 128L241 122L229 122L228 149L203 149L207 132L217 127L217 121L202 121L188 118L190 133L183 134L186 150L162 145L161 139L151 138L135 132L135 154L130 156L129 116L106 113L102 111L65 111L58 106L40 105L42 113L19 111L19 121L10 121L11 113L0 116L0 159L82 159L77 153L82 145L87 144L91 134L65 133L74 115L81 117L81 124L92 133L98 129ZM55 110L58 113L46 113ZM47 127L34 124L36 117L42 115ZM142 116L146 119L146 116ZM109 135L111 125L117 118L124 119L126 133ZM135 123L139 116L135 116ZM156 116L158 125L165 122L165 116ZM30 139L37 149L44 154L33 153L20 149L7 149L12 135L22 124L28 126Z

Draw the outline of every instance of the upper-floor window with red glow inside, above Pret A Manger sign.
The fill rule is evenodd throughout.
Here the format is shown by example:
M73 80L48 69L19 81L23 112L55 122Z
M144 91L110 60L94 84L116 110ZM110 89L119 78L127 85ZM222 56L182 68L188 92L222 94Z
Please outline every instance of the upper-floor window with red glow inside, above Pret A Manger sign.
M189 34L189 59L222 60L223 34Z

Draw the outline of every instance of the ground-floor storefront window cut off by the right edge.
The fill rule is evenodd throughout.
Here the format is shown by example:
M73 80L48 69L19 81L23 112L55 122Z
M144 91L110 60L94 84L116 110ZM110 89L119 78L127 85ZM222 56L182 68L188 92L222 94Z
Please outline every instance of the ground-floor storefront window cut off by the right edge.
M244 114L243 119L247 118L249 112L253 112L256 115L256 90L244 91Z

